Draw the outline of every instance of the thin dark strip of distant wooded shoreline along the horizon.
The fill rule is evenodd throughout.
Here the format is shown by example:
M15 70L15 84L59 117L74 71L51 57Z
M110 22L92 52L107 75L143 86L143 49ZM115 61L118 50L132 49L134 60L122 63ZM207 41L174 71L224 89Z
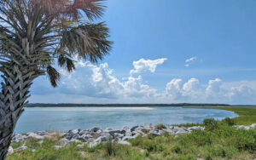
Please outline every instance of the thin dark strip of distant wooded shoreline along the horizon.
M192 106L192 107L210 107L210 106L226 106L230 107L232 105L228 104L194 104L194 103L177 103L177 104L67 104L67 103L59 103L59 104L46 104L46 103L30 103L27 104L26 107L141 107L141 106L149 106L149 107L163 107L163 106ZM253 106L253 105L236 105L236 106ZM234 105L233 105L234 107Z

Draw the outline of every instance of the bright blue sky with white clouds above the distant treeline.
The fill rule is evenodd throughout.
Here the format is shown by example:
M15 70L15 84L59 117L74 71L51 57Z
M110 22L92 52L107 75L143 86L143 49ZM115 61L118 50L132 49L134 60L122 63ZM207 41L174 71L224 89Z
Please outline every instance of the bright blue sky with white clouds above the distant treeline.
M62 72L58 89L39 78L31 102L256 104L256 1L105 4L111 54Z

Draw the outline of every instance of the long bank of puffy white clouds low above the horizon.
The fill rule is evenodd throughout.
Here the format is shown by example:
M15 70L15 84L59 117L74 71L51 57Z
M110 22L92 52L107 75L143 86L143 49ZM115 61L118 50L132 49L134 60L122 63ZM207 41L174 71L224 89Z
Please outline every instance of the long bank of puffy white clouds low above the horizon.
M38 78L32 86L31 102L44 103L229 103L256 104L256 82L225 83L219 78L209 79L207 84L199 79L173 78L164 90L154 89L143 82L143 76L134 73L150 71L166 59L137 60L134 69L125 80L113 76L108 63L99 66L79 61L77 70L63 75L59 87L50 87L45 77Z

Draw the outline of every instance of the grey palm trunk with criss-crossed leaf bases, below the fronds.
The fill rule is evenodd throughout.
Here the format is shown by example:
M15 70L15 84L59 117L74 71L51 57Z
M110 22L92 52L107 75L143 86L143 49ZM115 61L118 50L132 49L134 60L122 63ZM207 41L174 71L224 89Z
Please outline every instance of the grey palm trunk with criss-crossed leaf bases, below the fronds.
M0 93L0 160L3 160L11 143L15 124L30 96L28 89L32 80L38 77L38 72L32 67L17 65L4 66L0 70L3 71Z

